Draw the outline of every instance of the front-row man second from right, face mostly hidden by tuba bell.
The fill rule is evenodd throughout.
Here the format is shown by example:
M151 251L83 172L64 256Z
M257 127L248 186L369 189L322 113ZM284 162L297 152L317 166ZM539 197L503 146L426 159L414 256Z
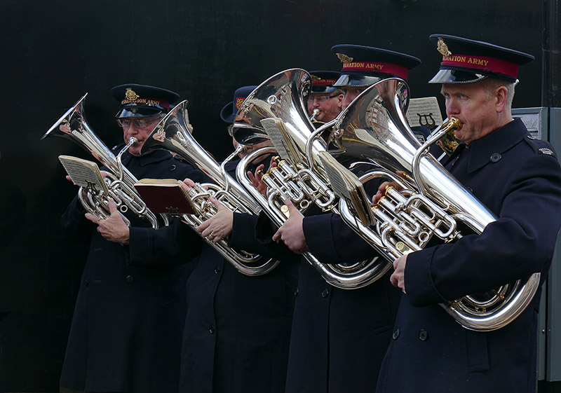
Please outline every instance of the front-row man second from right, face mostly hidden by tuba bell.
M407 79L408 70L420 63L417 57L368 46L337 45L332 52L343 62L334 83L344 91L343 109L373 83L392 76ZM290 218L273 240L283 240L298 254L309 250L322 263L372 258L372 247L338 214L316 209L302 218L288 205ZM302 261L286 392L372 392L399 298L386 276L360 289L338 289Z

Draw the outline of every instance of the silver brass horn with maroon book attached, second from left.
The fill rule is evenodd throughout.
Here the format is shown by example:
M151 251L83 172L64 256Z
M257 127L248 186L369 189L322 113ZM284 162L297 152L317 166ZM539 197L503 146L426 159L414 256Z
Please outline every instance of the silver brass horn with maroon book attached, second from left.
M196 142L196 139L191 135L192 130L186 100L177 104L160 120L160 123L156 125L144 142L141 150L141 153L156 149L171 151L198 167L214 181L214 184L196 184L194 188L191 188L189 194L197 208L197 214L183 214L182 221L196 230L203 221L214 216L217 209L210 202L211 197L219 200L232 212L259 214L259 207L224 169L224 165L234 158L238 151L243 149L243 146L238 146L238 149L227 160L224 160L222 165L219 165ZM259 254L250 254L245 251L238 252L228 247L226 240L220 240L219 242L210 242L206 238L204 240L244 275L264 275L278 264L278 261L266 260Z

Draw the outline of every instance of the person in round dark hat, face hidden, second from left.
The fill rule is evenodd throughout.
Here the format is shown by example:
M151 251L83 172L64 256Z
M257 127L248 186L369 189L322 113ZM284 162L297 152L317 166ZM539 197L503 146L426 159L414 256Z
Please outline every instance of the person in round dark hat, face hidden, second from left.
M234 100L222 109L220 117L229 123L229 133L243 100L256 87L236 89ZM243 158L270 144L266 139L238 156ZM256 160L250 170L262 161L267 163L269 156ZM239 162L235 159L225 165L234 179ZM185 184L193 185L189 179ZM201 235L211 242L225 238L236 250L269 251L255 240L257 215L233 213L220 202L211 201L218 212L198 227ZM202 247L201 255L187 280L180 393L285 392L297 261L281 261L270 272L250 277L238 272L202 239L197 247Z

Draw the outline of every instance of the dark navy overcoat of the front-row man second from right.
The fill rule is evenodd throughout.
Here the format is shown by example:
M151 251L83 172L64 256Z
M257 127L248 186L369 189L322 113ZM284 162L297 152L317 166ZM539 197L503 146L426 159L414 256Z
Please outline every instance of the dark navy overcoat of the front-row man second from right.
M367 191L375 193L377 186L369 182ZM311 209L302 226L309 251L321 263L353 263L376 255L338 214ZM257 231L264 244L282 247L271 242L274 230L266 220L259 221ZM367 287L339 289L302 258L286 393L373 392L400 295L389 273Z

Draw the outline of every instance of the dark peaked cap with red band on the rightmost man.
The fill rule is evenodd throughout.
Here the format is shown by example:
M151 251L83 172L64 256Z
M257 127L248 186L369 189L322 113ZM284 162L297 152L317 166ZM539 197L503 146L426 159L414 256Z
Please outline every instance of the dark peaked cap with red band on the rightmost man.
M440 71L428 83L474 83L494 77L515 82L518 66L534 56L484 41L447 34L428 37L442 55Z

